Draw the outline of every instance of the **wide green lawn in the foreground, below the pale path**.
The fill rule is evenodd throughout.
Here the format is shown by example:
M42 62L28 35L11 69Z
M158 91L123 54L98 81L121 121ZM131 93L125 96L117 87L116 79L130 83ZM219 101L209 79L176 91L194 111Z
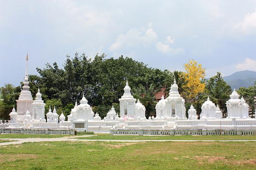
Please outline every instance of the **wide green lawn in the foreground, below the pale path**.
M256 142L37 142L0 147L4 170L255 170Z

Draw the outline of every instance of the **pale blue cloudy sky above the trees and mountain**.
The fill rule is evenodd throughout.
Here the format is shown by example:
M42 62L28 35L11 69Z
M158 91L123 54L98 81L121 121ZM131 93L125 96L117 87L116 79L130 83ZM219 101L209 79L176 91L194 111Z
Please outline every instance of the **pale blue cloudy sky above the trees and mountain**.
M132 57L183 71L195 59L207 77L256 71L256 0L0 0L0 86L19 85L77 51Z

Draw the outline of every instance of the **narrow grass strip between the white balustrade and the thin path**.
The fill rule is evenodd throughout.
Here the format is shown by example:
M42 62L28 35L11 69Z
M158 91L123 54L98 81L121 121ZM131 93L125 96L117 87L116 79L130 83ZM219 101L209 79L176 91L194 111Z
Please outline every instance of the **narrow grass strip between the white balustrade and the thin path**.
M77 137L77 139L117 139L117 140L256 140L256 136L137 136L94 134L91 137Z

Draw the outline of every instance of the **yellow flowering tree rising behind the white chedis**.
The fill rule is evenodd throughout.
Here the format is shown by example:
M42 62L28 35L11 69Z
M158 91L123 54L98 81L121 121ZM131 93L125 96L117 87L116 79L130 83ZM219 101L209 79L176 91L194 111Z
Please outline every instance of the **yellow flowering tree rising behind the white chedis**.
M186 70L183 73L186 82L184 94L188 99L193 99L204 91L205 83L202 79L205 76L205 68L202 68L202 65L193 59L184 64L184 68Z

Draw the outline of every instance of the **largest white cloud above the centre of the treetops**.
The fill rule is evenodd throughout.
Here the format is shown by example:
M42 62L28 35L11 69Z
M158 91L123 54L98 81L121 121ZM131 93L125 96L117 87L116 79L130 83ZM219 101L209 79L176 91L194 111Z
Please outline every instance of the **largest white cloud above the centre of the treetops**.
M149 23L148 26L151 27L152 24ZM147 46L151 45L156 40L157 33L153 28L148 28L147 30L144 28L131 28L126 34L120 34L116 42L109 47L109 50L116 51L121 48L132 48L139 44Z

